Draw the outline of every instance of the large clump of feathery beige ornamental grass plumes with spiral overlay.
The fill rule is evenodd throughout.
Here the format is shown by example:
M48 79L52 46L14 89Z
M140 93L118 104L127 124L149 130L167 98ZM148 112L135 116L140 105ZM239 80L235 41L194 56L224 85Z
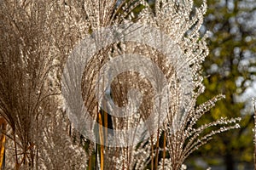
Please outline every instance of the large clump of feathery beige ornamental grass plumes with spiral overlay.
M3 0L4 168L183 169L214 134L238 128L240 118L196 124L224 98L196 106L206 9L192 0Z

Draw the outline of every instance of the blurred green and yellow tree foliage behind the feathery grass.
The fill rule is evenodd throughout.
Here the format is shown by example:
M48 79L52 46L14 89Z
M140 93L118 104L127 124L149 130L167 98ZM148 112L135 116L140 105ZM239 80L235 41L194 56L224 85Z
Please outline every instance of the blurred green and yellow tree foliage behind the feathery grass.
M246 110L244 97L255 80L256 27L253 16L256 1L208 0L207 3L201 31L209 31L210 54L203 64L206 91L198 102L224 94L226 98L211 110L210 121L221 116L241 116L242 122L241 129L218 135L218 139L207 144L204 150L208 150L205 152L207 156L224 156L226 169L233 170L235 161L253 161L253 116Z

